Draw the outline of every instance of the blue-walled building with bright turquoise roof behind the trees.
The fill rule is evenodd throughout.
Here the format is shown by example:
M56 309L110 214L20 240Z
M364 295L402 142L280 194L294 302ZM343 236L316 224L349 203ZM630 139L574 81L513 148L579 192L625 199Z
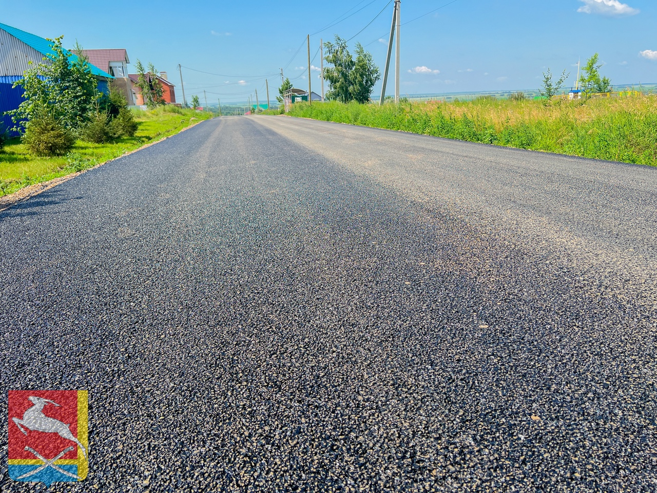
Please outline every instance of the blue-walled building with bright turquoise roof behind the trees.
M23 78L24 72L30 68L30 62L32 66L49 63L49 59L43 60L44 57L54 54L51 41L0 23L0 132L14 126L11 116L3 116L3 113L15 110L23 101L24 91L22 87L12 87L14 82ZM71 54L72 62L77 59L76 55ZM106 93L114 77L96 66L90 67L91 73L98 80L99 91ZM10 135L17 134L10 132Z

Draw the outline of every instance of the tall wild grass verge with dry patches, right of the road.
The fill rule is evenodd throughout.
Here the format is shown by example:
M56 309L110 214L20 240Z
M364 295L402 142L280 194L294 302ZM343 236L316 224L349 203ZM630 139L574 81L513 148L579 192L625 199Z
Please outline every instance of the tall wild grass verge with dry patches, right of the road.
M657 97L585 102L479 99L464 103L292 106L301 116L533 151L657 166Z

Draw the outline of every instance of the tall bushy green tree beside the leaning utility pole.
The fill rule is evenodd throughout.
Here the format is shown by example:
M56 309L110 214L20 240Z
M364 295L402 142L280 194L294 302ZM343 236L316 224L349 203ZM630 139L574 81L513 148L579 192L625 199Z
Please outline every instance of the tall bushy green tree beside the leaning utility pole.
M356 43L354 60L347 47L347 42L336 35L335 43L324 43L327 50L325 60L332 64L324 69L324 78L328 80L327 99L348 103L357 101L367 103L374 84L381 78L378 66L372 55Z

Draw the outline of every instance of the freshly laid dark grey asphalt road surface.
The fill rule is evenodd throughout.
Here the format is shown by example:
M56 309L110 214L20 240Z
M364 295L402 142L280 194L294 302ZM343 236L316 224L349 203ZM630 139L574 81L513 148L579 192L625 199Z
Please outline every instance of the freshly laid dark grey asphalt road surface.
M656 192L642 166L203 122L0 212L3 413L89 390L89 476L53 491L654 492ZM43 489L9 479L8 423L0 490Z

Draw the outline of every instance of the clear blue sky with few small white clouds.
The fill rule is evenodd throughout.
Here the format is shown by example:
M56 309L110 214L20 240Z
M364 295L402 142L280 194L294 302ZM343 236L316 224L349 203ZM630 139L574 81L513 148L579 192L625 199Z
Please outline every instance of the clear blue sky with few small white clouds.
M654 0L450 1L402 1L402 95L535 89L548 67L553 74L571 72L572 84L578 58L584 62L595 52L612 83L657 83ZM166 70L179 101L181 64L188 100L196 93L203 103L205 89L208 103L221 98L223 104L244 101L254 89L265 101L265 78L273 99L281 67L296 87L306 89L306 34L313 66L319 67L320 38L338 34L355 36L350 47L357 41L365 45L383 72L393 8L388 0L145 5L0 0L0 22L43 37L63 34L67 47L78 39L89 49L125 48L131 72L137 59ZM311 83L319 92L317 72ZM387 92L393 91L391 76ZM373 96L379 93L380 83Z

